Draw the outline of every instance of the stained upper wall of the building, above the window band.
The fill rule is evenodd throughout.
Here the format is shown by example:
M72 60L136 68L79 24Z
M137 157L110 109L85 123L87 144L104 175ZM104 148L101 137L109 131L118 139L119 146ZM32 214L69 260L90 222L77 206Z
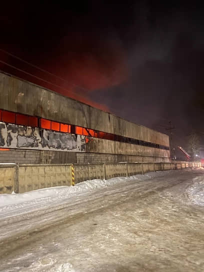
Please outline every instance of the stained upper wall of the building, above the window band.
M3 73L0 108L169 146L165 134Z

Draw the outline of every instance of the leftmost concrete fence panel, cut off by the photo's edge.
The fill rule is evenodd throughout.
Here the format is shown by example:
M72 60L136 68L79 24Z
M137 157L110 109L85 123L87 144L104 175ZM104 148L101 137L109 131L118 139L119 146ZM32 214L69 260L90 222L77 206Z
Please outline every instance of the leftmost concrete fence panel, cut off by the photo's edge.
M0 165L0 193L15 191L16 167L13 165Z

